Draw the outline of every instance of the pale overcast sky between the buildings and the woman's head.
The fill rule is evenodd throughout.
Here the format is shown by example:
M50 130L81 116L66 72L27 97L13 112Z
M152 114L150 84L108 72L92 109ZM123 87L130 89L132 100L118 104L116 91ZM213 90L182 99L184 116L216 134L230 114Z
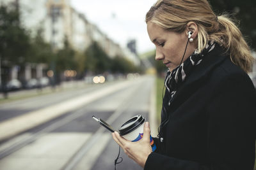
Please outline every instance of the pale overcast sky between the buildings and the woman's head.
M71 5L121 46L137 40L139 53L154 49L147 34L145 15L156 0L70 0Z

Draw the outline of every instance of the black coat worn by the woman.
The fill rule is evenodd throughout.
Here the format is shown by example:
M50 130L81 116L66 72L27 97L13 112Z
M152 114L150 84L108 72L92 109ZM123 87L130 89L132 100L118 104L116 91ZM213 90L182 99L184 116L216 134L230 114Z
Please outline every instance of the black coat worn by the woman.
M147 170L252 170L255 161L256 92L249 76L223 55L205 56L168 106L163 142L148 156Z

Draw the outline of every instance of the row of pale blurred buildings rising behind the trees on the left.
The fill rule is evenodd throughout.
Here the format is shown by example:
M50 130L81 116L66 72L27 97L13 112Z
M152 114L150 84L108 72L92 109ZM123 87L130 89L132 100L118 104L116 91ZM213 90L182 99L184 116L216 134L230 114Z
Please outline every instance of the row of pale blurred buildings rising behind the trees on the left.
M108 38L82 13L72 8L70 0L0 0L0 5L10 3L15 4L15 8L20 11L20 24L31 31L32 36L41 29L45 41L51 43L55 49L63 48L65 39L78 51L86 50L93 41L97 41L109 57L125 57L136 66L140 64L140 59L134 55L134 52L121 48ZM40 78L44 76L45 67L44 64L27 64L22 76L25 80ZM11 72L10 79L17 78L19 66L13 67Z

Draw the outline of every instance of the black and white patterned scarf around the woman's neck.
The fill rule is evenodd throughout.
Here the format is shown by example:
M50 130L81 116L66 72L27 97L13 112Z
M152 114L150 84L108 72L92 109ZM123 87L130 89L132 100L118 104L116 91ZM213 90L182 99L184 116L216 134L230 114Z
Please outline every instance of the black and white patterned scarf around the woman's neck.
M202 60L204 59L204 55L211 52L211 50L214 49L215 45L216 43L214 43L214 41L209 41L205 46L204 50L202 50L202 52L199 53L198 50L195 50L195 52L193 52L193 54L188 57L188 59L180 64L180 66L173 69L173 71L168 70L168 73L166 74L166 78L164 80L164 85L168 92L170 92L170 100L173 98L173 96L175 96L177 89L186 79L186 76L191 73L195 66L202 62Z

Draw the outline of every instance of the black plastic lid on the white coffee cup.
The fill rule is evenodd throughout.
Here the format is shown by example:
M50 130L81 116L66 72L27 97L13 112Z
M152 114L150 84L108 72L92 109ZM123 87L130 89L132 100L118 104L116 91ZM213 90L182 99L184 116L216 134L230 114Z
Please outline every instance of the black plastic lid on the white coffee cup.
M118 129L120 135L124 136L125 134L129 134L129 132L132 132L138 127L140 127L140 125L143 124L143 122L145 122L145 118L143 118L141 115L137 115L136 117L130 118Z

